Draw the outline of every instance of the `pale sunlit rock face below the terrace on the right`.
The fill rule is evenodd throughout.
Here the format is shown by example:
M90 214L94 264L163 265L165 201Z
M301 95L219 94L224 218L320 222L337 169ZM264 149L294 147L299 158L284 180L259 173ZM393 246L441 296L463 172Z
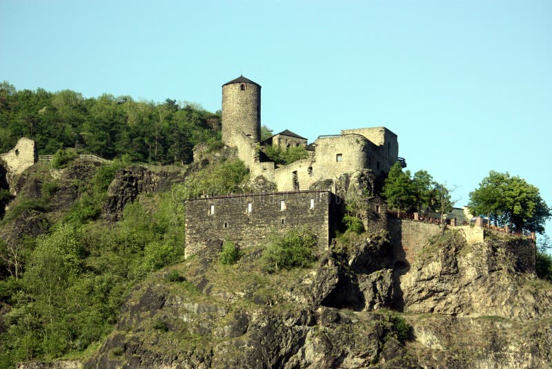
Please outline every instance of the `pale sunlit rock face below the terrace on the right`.
M515 319L552 316L552 292L517 272L506 245L468 245L459 235L426 247L409 269L397 270L404 310Z

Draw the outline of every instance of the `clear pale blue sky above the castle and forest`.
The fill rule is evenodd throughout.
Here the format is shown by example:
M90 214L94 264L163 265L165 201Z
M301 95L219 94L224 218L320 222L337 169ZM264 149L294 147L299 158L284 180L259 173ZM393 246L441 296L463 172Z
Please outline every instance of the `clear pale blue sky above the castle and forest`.
M217 111L240 73L275 131L386 126L457 205L491 169L552 205L552 1L0 0L0 80L19 90Z

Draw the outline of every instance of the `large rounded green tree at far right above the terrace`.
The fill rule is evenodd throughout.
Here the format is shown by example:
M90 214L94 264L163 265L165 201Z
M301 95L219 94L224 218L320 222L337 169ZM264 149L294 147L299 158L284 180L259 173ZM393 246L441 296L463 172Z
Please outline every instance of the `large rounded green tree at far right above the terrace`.
M496 225L514 225L518 231L542 233L552 216L537 187L507 172L490 171L470 193L469 208L472 214L489 214Z

